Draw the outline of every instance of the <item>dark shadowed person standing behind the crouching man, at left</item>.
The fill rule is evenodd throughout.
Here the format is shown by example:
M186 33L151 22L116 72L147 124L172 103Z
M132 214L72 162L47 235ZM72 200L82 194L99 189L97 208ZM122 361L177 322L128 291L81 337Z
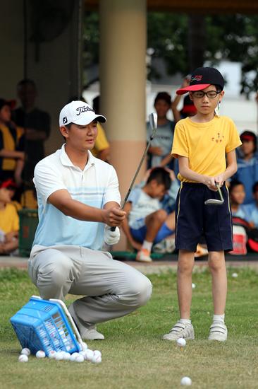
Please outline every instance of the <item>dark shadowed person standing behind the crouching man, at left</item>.
M50 116L36 107L37 88L35 82L23 79L17 86L21 107L13 111L13 120L25 129L24 180L30 187L34 168L44 158L44 141L50 134Z

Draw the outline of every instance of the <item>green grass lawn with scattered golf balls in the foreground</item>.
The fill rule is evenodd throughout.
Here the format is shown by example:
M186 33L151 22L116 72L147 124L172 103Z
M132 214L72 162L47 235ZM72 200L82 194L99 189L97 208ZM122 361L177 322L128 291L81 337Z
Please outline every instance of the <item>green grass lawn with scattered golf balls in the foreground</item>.
M238 273L238 278L231 274ZM226 344L208 342L212 318L211 277L196 272L192 298L194 341L180 351L161 340L178 318L176 273L149 277L154 285L147 306L131 315L99 325L106 339L88 342L102 351L102 364L39 360L31 356L18 363L20 344L9 323L37 289L27 273L0 270L0 388L180 388L180 378L190 376L192 388L258 388L257 272L228 269ZM67 303L74 296L68 296Z

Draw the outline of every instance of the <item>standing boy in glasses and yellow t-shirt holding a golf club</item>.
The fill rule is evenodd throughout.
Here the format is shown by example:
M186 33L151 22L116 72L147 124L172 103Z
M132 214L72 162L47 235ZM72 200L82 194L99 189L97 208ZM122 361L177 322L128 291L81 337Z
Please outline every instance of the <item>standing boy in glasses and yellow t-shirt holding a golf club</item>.
M241 141L232 120L215 114L215 108L223 98L223 86L223 76L217 69L200 67L192 73L190 85L177 91L179 94L190 93L197 114L176 124L173 139L172 156L178 158L181 181L176 204L180 320L164 335L166 340L195 339L190 320L192 268L202 234L209 251L214 302L214 319L208 339L221 342L227 339L224 251L233 249L233 238L225 182L237 170L235 149ZM221 187L223 204L205 205L207 199L218 198L216 184Z

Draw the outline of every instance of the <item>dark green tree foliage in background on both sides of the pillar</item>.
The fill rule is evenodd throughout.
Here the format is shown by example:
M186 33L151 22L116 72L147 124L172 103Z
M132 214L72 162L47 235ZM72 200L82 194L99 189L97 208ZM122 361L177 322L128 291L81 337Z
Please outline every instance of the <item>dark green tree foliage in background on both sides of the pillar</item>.
M222 59L242 64L242 93L258 89L258 15L209 15L204 18L204 32L192 31L190 16L185 13L149 12L147 15L147 55L150 59L163 59L169 75L188 74L191 70L190 47L202 45L200 62L212 65ZM196 23L195 23L196 24ZM203 26L202 26L203 27ZM195 26L196 29L196 26ZM99 13L85 13L83 28L83 60L87 68L99 62ZM150 80L159 77L159 69L149 62Z

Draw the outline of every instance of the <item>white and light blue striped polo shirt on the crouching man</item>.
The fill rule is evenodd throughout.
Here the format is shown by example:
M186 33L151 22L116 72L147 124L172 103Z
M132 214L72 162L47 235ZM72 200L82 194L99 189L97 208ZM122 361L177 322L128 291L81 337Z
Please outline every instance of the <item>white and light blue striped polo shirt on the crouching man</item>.
M66 189L73 199L91 207L102 209L107 202L120 204L118 178L113 166L95 158L89 151L87 165L81 170L70 161L63 145L37 163L33 182L39 206L33 251L37 250L35 245L102 248L104 223L73 219L49 204L47 199L56 190Z

